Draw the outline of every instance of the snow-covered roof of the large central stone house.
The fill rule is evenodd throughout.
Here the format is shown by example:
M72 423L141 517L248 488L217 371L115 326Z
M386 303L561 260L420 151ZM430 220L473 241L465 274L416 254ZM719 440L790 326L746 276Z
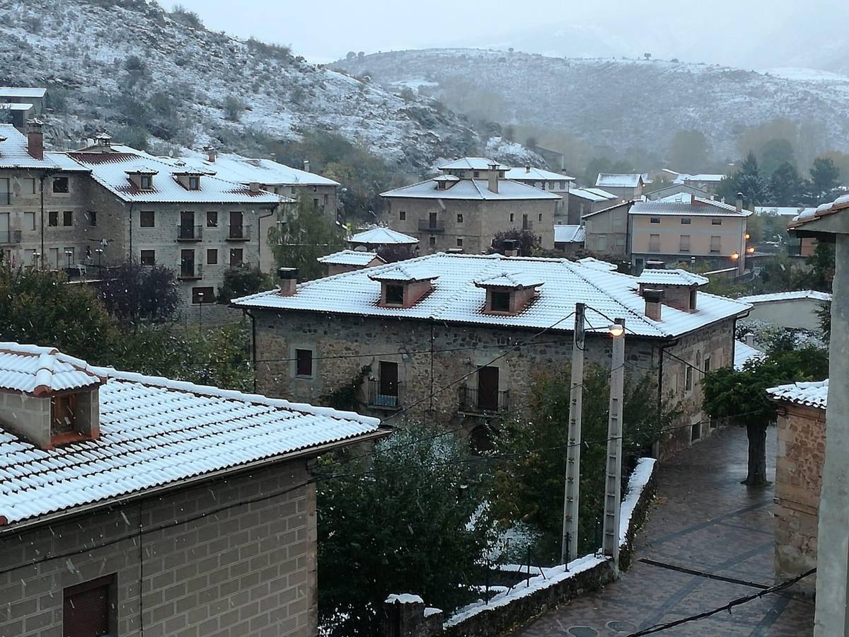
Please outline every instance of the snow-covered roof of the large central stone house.
M412 307L379 307L380 283L373 280L396 264L337 274L298 285L292 296L277 290L245 296L233 301L237 307L266 307L339 313L355 316L396 317L437 320L460 324L487 324L500 327L571 330L565 320L576 302L588 304L590 325L606 331L611 318L625 318L627 329L642 336L677 336L701 326L743 313L751 306L721 296L700 293L698 309L684 312L665 307L663 319L645 316L645 302L637 293L637 279L627 274L585 267L566 259L501 255L444 254L419 256L403 262L405 268L427 268L438 273L430 294ZM503 272L523 273L543 282L537 299L524 312L492 316L483 312L485 290L476 281Z

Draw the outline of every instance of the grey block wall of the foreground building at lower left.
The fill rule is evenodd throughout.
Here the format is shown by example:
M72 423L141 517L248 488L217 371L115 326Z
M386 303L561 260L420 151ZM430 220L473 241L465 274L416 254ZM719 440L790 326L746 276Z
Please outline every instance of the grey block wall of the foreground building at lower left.
M121 637L313 637L315 489L259 499L307 476L292 461L0 534L0 637L62 637L63 589L111 573Z

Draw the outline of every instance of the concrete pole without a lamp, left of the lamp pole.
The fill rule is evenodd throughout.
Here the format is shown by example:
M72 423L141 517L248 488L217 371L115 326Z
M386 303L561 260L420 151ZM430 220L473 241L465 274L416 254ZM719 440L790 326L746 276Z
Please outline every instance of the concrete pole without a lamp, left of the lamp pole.
M578 505L581 495L581 409L583 404L583 303L575 304L575 329L572 331L572 379L569 394L569 434L566 442L566 483L563 494L563 542L560 561L567 564L577 556Z

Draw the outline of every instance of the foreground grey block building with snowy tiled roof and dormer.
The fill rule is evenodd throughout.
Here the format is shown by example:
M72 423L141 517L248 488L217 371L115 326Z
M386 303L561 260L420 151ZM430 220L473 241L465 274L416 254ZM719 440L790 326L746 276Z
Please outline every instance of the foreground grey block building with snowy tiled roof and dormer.
M0 377L0 634L316 634L312 463L378 420L16 343Z

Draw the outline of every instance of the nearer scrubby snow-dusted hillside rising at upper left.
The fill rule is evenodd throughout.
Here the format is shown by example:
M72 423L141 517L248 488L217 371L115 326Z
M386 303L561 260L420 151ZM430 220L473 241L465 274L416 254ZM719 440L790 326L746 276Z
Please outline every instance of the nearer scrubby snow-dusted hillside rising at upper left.
M154 141L247 150L245 132L292 139L320 129L420 169L465 154L473 138L429 102L177 22L145 0L0 0L0 15L0 84L65 93L48 116L48 141L141 124ZM245 106L229 119L228 96Z

